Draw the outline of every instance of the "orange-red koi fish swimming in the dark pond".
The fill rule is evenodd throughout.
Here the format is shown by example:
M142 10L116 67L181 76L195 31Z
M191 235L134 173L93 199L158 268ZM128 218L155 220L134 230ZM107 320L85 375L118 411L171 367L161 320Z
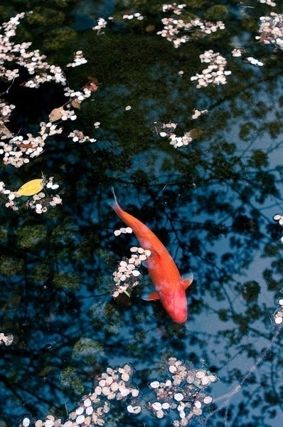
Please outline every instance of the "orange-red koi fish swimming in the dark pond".
M117 216L132 228L142 248L151 251L151 256L146 260L146 267L156 290L143 299L146 301L160 300L174 322L186 322L188 308L185 290L193 282L193 275L189 275L186 279L181 278L178 268L164 244L142 221L123 211L115 194L112 208Z

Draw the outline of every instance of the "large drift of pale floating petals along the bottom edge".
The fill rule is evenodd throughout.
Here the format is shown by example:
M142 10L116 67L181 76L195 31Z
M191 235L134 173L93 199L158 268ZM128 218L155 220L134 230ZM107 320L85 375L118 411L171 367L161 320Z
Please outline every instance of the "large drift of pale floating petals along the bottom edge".
M134 369L130 364L114 368L107 367L105 372L95 376L93 390L82 396L78 405L69 413L67 420L56 419L53 415L48 414L45 420L38 419L32 422L31 418L24 416L19 427L107 425L107 414L111 414L112 408L117 417L117 405L112 404L114 401L120 402L121 405L124 404L124 411L132 416L142 414L143 408L149 408L156 418L164 418L168 411L175 411L178 419L173 421L172 426L187 426L191 418L203 413L203 405L208 405L213 401L211 396L206 396L203 392L205 386L201 386L199 382L200 373L202 378L208 376L210 382L217 381L217 378L208 371L194 369L191 363L183 364L175 357L169 358L167 367L176 368L171 379L164 382L151 381L149 384L151 394L146 393L145 398L140 396L139 389L132 384ZM181 378L181 382L177 377ZM198 385L193 385L191 379ZM123 411L122 406L120 409Z

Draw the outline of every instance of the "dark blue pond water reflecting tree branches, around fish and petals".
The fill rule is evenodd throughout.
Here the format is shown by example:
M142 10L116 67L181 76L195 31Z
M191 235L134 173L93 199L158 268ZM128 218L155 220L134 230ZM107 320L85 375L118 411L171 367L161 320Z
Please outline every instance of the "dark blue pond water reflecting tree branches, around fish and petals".
M208 3L202 2L204 9ZM18 2L11 4L18 11ZM134 6L148 16L145 26L161 26L161 5L158 18L156 4L147 14L138 1ZM40 46L60 64L83 47L88 63L68 69L68 82L80 90L92 76L99 85L76 110L75 127L66 122L41 157L16 172L1 166L1 180L13 189L41 172L64 189L63 205L40 215L24 206L6 209L1 199L0 332L14 335L13 344L1 346L1 421L16 424L26 411L35 419L47 411L65 418L66 408L72 411L90 392L95 375L125 363L136 369L133 381L146 399L149 382L163 378L161 364L176 357L219 376L209 389L215 406L204 411L204 423L278 426L282 343L272 316L282 289L282 246L272 217L283 206L282 78L280 52L255 42L257 22L270 12L265 7L235 4L225 33L179 50L142 23L98 37L90 30L75 33L71 42L61 41L63 54ZM70 1L62 19L72 8ZM31 34L37 47L41 31L25 21L18 37ZM235 39L265 66L230 56ZM232 74L226 85L198 89L190 77L204 68L199 55L210 48L228 57ZM65 101L61 87L52 85L48 97L51 86L43 85L32 116L36 89L23 102L16 85L8 92L8 84L1 86L6 102L16 105L14 132L21 126L28 132ZM194 108L207 108L208 115L191 120ZM178 137L191 130L196 137L174 149L153 129L155 121L177 122ZM68 140L74 129L97 142ZM122 224L107 205L111 186L123 208L169 248L181 273L193 272L185 325L173 324L159 302L142 300L152 286L146 268L130 299L112 299L112 272L137 241L113 235ZM113 413L117 426L132 426L133 419L137 426L169 422L148 412L132 418L115 407Z

